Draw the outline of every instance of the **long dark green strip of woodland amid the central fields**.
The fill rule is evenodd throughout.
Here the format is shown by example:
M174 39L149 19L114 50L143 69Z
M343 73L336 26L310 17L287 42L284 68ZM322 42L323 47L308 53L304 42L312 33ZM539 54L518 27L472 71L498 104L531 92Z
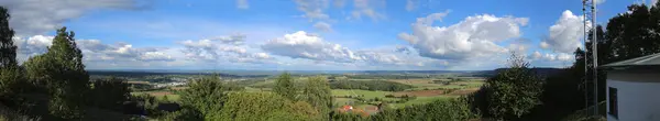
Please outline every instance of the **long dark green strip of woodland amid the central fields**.
M385 80L345 80L337 79L330 81L332 89L362 89L362 90L382 90L382 91L403 91L414 88L414 86L385 81Z

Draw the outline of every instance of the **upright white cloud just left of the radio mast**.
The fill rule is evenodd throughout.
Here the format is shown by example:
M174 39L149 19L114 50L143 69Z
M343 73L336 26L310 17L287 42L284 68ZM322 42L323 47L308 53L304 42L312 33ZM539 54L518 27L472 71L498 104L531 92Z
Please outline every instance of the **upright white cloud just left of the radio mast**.
M560 53L571 53L582 46L584 35L583 16L566 10L562 12L557 23L550 26L550 35L540 43L542 48Z

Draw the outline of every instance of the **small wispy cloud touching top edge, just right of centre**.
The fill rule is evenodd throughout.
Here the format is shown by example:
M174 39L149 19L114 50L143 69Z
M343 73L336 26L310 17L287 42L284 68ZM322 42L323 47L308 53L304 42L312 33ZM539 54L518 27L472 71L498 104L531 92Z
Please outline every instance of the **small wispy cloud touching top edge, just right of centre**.
M376 12L374 6L385 4L382 0L353 0L353 11L351 12L350 19L362 19L363 15L371 18L372 20L385 19L385 14Z

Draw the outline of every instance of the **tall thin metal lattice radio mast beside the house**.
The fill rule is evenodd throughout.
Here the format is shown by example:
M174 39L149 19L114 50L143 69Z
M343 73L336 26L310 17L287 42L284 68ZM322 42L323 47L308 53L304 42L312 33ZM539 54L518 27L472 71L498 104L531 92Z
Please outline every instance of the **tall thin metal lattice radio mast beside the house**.
M582 0L582 13L583 13L583 28L584 28L584 46L585 46L585 55L584 55L584 84L585 84L585 89L588 89L586 87L588 87L586 84L588 81L587 77L588 76L588 64L587 64L587 54L586 54L586 44L587 42L591 42L592 44L592 70L593 70L593 116L598 116L598 73L597 73L597 68L598 68L598 50L597 50L597 32L596 32L596 1L597 0ZM592 40L588 40L588 35L592 35ZM587 101L586 105L588 106L588 91L585 91L585 100ZM587 107L588 108L588 107ZM587 112L588 114L588 112Z

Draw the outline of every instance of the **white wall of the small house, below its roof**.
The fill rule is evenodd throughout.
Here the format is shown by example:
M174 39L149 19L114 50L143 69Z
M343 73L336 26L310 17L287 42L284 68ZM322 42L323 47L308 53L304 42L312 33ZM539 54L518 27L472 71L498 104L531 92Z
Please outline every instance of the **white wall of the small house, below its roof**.
M634 75L630 75L634 76ZM639 78L660 80L660 78ZM618 118L607 113L608 121L660 121L660 82L635 81L623 78L607 79L607 87L617 88ZM609 90L607 89L607 94ZM606 95L608 96L608 95ZM607 97L607 102L609 97ZM609 112L609 105L607 105Z

